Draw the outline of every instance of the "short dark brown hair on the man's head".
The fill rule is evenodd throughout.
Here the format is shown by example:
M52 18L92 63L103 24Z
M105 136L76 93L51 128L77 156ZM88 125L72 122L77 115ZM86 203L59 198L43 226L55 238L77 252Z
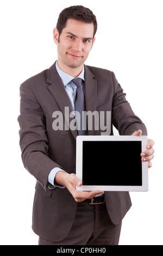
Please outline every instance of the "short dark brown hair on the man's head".
M77 21L83 21L86 23L92 23L94 25L93 38L97 31L97 20L96 16L92 13L89 8L83 7L83 5L73 5L71 7L65 8L61 11L58 22L57 29L59 34L61 34L62 29L66 27L66 22L68 19L74 19Z

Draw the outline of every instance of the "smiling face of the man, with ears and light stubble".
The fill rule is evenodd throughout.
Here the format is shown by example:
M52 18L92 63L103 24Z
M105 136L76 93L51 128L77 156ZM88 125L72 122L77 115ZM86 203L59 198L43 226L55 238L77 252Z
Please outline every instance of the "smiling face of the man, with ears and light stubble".
M66 27L60 35L58 29L54 28L54 41L58 45L58 64L63 71L83 69L95 42L93 31L93 23L73 19L67 20Z

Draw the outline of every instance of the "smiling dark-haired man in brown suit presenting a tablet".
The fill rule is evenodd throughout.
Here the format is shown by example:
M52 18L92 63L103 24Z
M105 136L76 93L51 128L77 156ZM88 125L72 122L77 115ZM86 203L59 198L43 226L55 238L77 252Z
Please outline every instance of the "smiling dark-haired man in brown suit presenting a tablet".
M112 124L120 135L147 135L114 73L84 65L96 30L91 10L83 6L64 9L54 28L57 62L21 84L20 145L24 167L37 179L33 230L39 235L39 245L118 245L122 219L131 206L128 192L76 190L82 185L75 174L76 137L83 131L53 125L56 113L67 120L65 107L70 114L82 106L82 111L92 113L111 111L110 135ZM94 127L84 132L101 135ZM141 154L149 168L153 144L148 139L147 150Z

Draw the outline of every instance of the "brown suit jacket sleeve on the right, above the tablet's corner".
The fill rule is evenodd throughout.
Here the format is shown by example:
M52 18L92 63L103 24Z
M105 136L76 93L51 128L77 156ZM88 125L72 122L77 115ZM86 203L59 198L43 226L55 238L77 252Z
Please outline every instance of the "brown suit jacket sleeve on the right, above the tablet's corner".
M114 82L114 96L112 99L112 122L120 135L131 135L134 131L142 130L142 135L147 135L145 124L142 123L130 107L126 100L126 94L118 84L114 72L112 72Z

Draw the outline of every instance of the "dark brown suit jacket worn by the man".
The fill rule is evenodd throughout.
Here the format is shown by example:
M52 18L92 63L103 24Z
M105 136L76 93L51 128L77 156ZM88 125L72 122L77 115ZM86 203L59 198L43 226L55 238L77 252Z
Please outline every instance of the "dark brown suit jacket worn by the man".
M72 227L77 202L66 188L50 190L48 175L54 167L76 173L77 131L54 131L52 128L54 111L64 114L68 106L71 112L55 63L22 83L20 96L18 121L22 161L37 179L32 227L42 238L59 241ZM111 111L111 127L113 124L120 135L131 135L138 129L147 135L145 125L133 113L125 96L113 72L85 65L86 111ZM93 129L89 135L101 135L101 130ZM105 200L111 221L120 223L131 206L129 193L105 192Z

